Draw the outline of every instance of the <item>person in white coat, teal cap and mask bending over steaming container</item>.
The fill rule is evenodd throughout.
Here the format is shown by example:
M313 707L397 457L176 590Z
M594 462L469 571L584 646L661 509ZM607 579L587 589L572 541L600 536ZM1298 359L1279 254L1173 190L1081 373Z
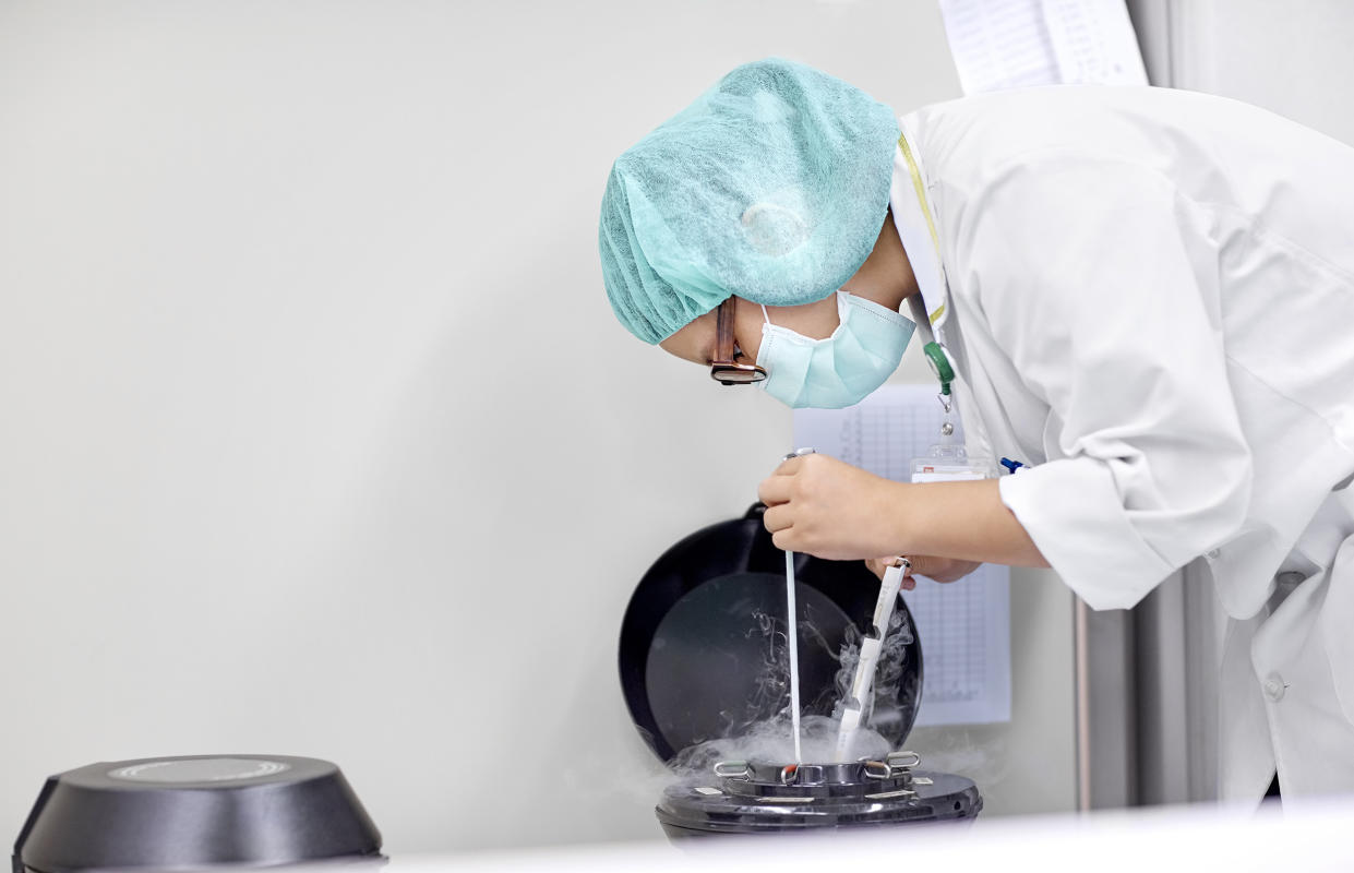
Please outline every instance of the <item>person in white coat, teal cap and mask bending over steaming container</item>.
M906 303L969 455L1024 464L788 460L760 487L779 547L1051 566L1095 609L1198 562L1229 616L1220 794L1354 790L1354 150L1155 88L898 119L766 60L620 156L600 250L631 333L791 406L883 384Z

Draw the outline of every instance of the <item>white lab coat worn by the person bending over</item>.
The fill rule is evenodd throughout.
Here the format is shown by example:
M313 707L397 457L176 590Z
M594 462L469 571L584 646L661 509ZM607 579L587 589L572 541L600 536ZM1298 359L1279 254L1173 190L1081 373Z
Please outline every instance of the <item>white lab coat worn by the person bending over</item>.
M1354 790L1354 149L1155 88L902 127L941 265L900 153L891 204L971 449L1029 466L1005 503L1093 608L1210 573L1221 796L1275 765L1285 800Z

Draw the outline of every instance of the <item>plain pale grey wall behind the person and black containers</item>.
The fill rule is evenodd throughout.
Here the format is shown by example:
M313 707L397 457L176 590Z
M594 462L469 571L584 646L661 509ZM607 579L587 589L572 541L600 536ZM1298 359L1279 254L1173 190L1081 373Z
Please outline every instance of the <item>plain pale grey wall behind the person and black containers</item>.
M209 751L340 762L395 853L657 836L620 614L789 416L617 326L597 204L772 53L959 95L930 3L0 3L0 842ZM988 734L1047 784L990 808L1068 808L1066 591L1017 589L1041 744Z

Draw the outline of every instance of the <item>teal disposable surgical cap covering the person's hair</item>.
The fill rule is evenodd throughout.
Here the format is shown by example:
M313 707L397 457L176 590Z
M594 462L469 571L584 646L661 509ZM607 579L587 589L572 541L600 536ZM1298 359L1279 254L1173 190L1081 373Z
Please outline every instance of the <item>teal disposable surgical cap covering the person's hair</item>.
M616 160L598 248L620 323L661 342L735 294L819 300L888 208L892 110L811 66L737 68Z

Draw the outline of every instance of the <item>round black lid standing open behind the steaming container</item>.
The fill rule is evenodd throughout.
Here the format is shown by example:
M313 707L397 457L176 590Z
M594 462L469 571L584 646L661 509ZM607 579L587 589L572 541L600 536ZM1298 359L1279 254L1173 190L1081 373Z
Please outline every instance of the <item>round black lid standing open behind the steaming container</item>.
M738 735L785 707L785 554L762 527L761 505L709 525L669 548L640 579L620 629L620 682L640 736L663 761L695 743ZM868 627L879 579L862 562L795 556L799 606L800 702L831 715L837 661L848 628ZM922 652L907 605L896 610L913 642L876 677L871 727L895 747L911 731L921 701ZM810 627L812 628L810 631Z

